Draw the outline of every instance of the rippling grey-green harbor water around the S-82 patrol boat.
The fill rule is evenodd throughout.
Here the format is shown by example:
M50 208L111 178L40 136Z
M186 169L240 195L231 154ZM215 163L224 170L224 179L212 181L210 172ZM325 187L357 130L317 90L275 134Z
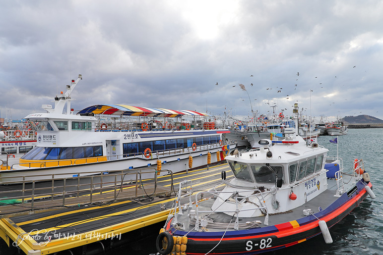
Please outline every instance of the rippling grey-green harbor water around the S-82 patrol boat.
M332 136L321 136L318 143L329 150L329 156L337 155L343 159L343 167L349 170L353 167L354 159L363 159L364 168L369 172L373 183L376 199L369 196L330 228L332 244L325 244L321 235L311 238L301 244L281 249L266 255L381 255L383 254L383 129L350 129L347 135L338 137L338 144L330 143ZM114 248L106 253L95 255L115 254L155 254L155 240L163 223L145 227L139 232L126 235L130 242ZM0 255L9 254L4 242L0 240ZM5 245L6 246L6 245ZM17 250L17 249L16 249ZM14 252L14 253L13 253ZM12 254L18 254L13 250ZM60 252L60 255L70 254ZM58 255L59 255L58 254Z

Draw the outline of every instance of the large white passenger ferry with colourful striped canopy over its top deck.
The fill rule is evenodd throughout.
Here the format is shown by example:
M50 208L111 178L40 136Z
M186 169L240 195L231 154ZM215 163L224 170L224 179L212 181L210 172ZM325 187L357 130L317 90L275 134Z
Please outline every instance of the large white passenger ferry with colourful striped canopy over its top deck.
M225 138L230 131L215 129L214 116L206 113L97 104L74 114L71 94L81 79L79 75L65 93L56 95L54 108L43 104L47 112L25 117L37 132L37 145L11 169L0 171L0 181L137 168L154 168L164 175L224 160L236 147Z

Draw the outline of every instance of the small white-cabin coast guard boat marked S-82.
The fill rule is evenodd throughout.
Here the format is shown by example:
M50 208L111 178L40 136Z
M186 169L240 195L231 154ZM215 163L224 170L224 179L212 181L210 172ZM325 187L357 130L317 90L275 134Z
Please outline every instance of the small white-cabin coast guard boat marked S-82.
M297 122L298 104L293 112ZM285 128L282 141L264 139L259 149L231 153L231 173L223 171L222 183L208 191L191 194L192 181L180 183L157 252L253 255L320 235L332 243L331 227L367 195L375 198L370 176L362 159L345 171L341 158L297 133Z

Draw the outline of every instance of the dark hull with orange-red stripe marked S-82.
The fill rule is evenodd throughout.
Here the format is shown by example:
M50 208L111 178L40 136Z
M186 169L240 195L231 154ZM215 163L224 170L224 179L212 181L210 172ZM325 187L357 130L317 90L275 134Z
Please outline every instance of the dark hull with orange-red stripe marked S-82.
M315 213L320 220L324 220L330 228L349 214L368 193L364 189L366 183L359 181L351 194L343 194L330 206ZM372 187L371 183L368 184ZM185 213L185 212L184 212ZM303 215L302 215L303 216ZM187 234L188 255L206 254L212 251L213 254L238 254L253 255L270 252L292 245L302 243L310 238L321 234L319 220L313 215L297 220L284 222L272 226L253 228L249 230L222 232L194 232L180 231L172 228L171 222L166 226L173 236L184 236ZM235 220L235 217L233 221Z

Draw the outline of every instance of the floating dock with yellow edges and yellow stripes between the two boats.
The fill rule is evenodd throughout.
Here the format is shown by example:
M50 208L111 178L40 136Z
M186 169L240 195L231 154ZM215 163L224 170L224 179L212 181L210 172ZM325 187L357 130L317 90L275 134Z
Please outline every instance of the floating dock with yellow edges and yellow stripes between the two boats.
M222 170L228 171L229 166L221 164L174 174L173 190L177 192L179 183L185 179L193 181L192 190L207 190L222 181ZM229 174L228 179L231 177ZM171 187L171 176L167 175L158 177L156 188L146 186L143 181L138 193L136 185L120 186L116 191L117 199L113 195L115 190L107 189L92 194L92 203L86 203L89 194L81 194L65 198L64 207L60 206L61 199L44 199L43 196L32 206L28 201L22 205L3 205L0 214L8 217L0 219L0 237L8 246L17 241L24 253L40 255L99 240L121 239L121 234L166 220L175 197L175 193L170 192ZM0 186L0 189L8 188ZM154 189L156 195L152 195ZM23 211L26 215L17 214Z

